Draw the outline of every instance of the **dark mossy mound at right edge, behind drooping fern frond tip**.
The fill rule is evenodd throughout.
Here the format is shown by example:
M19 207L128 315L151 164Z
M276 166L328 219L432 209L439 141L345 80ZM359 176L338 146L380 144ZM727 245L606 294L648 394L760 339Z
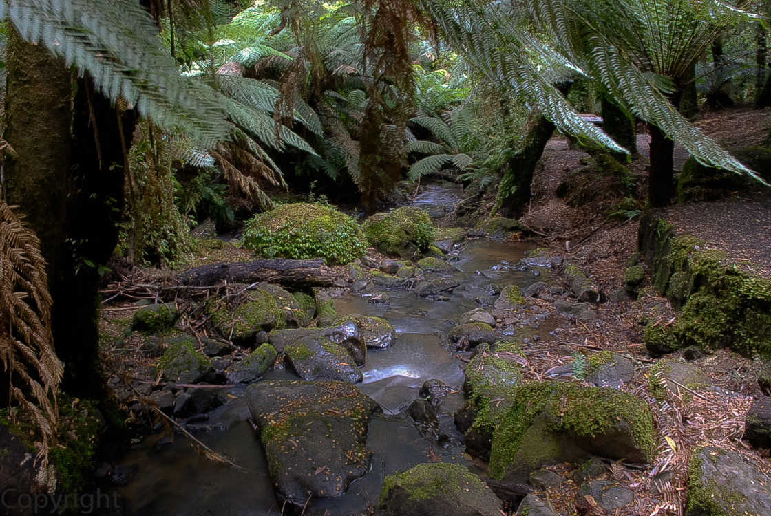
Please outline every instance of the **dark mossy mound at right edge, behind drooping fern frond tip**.
M736 147L730 150L742 165L755 171L766 181L771 180L771 149L763 147ZM705 166L691 157L682 166L677 183L680 203L721 199L731 193L765 188L763 184L746 174Z

